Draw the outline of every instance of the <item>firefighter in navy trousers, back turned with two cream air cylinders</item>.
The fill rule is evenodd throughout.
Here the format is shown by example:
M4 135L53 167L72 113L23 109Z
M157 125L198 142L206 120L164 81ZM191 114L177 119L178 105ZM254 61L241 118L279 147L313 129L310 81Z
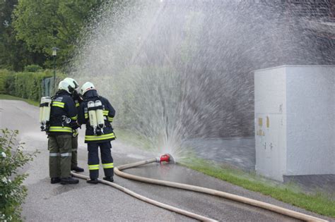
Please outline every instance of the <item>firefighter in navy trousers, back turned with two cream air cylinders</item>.
M78 123L86 124L85 142L88 144L88 169L90 171L90 180L87 180L87 183L98 183L98 147L100 147L102 168L105 173L103 179L113 182L114 164L110 141L115 140L111 125L115 110L107 99L98 95L91 82L86 82L81 87L81 94L83 102L78 113Z

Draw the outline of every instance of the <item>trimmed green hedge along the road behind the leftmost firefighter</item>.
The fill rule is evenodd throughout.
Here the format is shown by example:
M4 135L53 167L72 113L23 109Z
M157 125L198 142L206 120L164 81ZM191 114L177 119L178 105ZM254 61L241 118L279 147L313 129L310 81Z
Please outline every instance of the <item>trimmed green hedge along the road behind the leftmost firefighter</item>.
M42 70L36 73L12 73L2 69L0 70L0 93L39 101L42 97L42 80L52 76L52 70ZM60 78L64 77L64 74L57 73L56 81L58 82Z

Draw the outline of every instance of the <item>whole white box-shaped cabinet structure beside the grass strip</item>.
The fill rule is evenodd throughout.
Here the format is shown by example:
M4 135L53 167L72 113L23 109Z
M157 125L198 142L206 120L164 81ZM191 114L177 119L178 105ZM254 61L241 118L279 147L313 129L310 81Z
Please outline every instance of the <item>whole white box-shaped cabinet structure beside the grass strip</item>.
M335 66L279 66L254 72L258 173L276 180L283 175L335 173L334 76Z

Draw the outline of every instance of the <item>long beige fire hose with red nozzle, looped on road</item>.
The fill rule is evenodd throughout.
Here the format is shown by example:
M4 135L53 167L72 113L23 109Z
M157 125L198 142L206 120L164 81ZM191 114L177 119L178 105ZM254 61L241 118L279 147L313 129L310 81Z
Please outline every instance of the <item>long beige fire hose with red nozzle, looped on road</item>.
M137 180L137 181L141 181L143 183L151 183L151 184L155 184L155 185L175 187L175 188L179 188L179 189L182 189L182 190L190 190L190 191L194 191L194 192L201 192L201 193L205 193L205 194L208 194L208 195L213 195L213 196L216 196L216 197L223 197L225 199L231 199L235 202L241 202L243 204L248 204L248 205L251 205L251 206L257 206L261 209L274 211L278 214L283 214L283 215L286 215L286 216L290 216L291 218L297 218L297 219L302 220L302 221L326 221L326 220L323 220L322 218L317 218L315 216L302 214L302 213L297 212L297 211L292 211L290 209L285 209L281 206L276 206L274 204L268 204L266 202L261 202L261 201L255 200L255 199L250 199L250 198L247 198L247 197L241 197L241 196L238 196L238 195L232 195L228 192L222 192L222 191L219 191L219 190L212 190L212 189L208 189L206 187L198 187L198 186L194 186L194 185L187 185L187 184L184 184L184 183L175 183L175 182L170 182L170 181L166 181L166 180L156 180L156 179L152 179L152 178L144 178L144 177L141 177L141 176L131 175L129 173L122 172L122 170L127 169L127 168L134 168L136 166L143 166L143 165L151 164L151 163L157 163L157 162L162 163L162 162L170 162L170 161L174 161L172 159L172 156L170 154L164 154L164 155L162 155L158 158L148 159L148 160L145 160L145 161L139 161L139 162L136 162L136 163L125 164L125 165L122 165L122 166L115 167L114 168L114 173L116 175L121 176L122 178L127 178L127 179L130 179L130 180ZM78 174L78 173L72 173L72 175L74 175L78 178L82 178L82 179L89 179L88 176L81 175L81 174ZM167 204L157 202L153 199L149 199L148 197L143 197L139 194L136 194L135 192L132 192L131 190L128 190L127 188L124 188L120 185L117 185L116 183L110 183L106 180L100 180L100 179L98 179L98 180L99 180L100 183L104 183L106 185L110 185L112 187L115 187L118 190L121 190L121 191L126 192L127 194L129 194L133 197L136 197L137 199L141 199L144 202L148 202L150 204L160 206L163 209L168 209L170 211L175 211L178 214L182 214L184 216L189 216L189 217L195 218L196 220L199 220L199 221L216 221L216 220L213 220L211 218L206 218L204 216L194 214L194 213L189 212L189 211L184 211L182 209L178 209L174 206L170 206L170 205L167 205Z

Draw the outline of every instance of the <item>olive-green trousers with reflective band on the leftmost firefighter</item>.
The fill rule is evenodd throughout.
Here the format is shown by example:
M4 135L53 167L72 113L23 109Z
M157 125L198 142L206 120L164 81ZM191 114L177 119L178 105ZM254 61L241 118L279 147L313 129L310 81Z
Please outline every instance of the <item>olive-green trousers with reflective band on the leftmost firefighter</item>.
M71 176L71 135L49 135L49 175L50 178Z

